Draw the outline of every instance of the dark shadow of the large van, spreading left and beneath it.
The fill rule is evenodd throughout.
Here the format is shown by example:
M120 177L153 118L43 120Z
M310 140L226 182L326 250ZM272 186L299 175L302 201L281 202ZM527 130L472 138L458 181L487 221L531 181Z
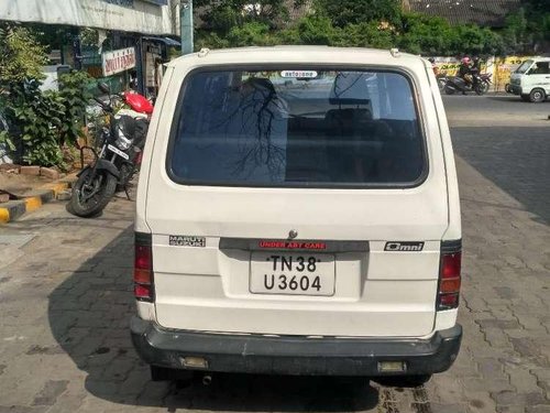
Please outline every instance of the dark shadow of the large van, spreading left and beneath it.
M129 333L132 242L132 228L127 228L50 295L53 335L87 373L85 387L95 396L168 411L343 412L377 405L378 391L367 379L218 374L210 387L150 381Z

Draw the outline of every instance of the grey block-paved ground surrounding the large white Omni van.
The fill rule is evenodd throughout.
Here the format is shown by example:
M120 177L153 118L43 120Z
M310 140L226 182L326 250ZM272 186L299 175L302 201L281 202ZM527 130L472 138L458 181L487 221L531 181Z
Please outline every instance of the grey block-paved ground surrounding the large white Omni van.
M367 380L148 381L128 334L133 204L50 204L0 228L0 413L550 412L550 104L446 98L464 228L462 351L418 389ZM517 113L520 115L517 115Z

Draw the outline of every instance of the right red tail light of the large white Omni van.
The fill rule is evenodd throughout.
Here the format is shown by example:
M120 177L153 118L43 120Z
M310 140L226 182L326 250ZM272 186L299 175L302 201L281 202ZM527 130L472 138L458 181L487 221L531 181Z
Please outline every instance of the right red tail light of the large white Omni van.
M462 242L441 243L441 264L439 272L437 309L451 309L459 306L461 284Z

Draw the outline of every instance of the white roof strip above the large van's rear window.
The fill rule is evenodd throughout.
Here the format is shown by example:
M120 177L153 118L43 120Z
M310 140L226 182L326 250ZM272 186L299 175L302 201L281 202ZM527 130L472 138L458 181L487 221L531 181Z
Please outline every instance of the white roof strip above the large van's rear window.
M271 47L239 47L208 50L178 57L167 66L204 66L219 64L265 64L265 63L297 63L297 64L365 64L373 63L384 66L422 66L428 63L422 57L397 50L377 50L361 47L329 47L329 46L271 46Z

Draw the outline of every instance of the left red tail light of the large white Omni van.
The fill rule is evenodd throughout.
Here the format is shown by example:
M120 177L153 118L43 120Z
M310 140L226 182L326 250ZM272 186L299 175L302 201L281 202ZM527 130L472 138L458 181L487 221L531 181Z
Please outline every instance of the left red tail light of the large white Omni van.
M135 232L134 296L139 301L154 301L153 252L151 233Z

